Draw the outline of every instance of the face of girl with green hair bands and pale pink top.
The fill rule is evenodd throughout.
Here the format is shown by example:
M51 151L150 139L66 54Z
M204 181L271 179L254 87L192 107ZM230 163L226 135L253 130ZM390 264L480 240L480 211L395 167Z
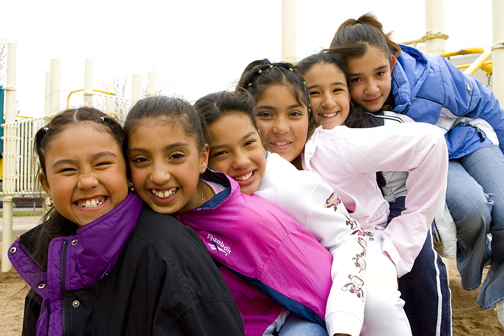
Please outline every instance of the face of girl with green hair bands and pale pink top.
M265 90L257 101L256 120L269 151L291 162L304 149L308 109L299 104L289 86L272 85Z

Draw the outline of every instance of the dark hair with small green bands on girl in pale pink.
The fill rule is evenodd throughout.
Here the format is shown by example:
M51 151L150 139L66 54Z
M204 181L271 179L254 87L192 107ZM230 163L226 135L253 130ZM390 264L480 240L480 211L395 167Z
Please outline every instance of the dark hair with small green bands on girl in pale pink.
M289 86L297 103L308 109L308 136L306 138L308 140L320 123L315 120L309 109L310 98L306 81L297 66L285 62L271 63L267 58L251 62L243 70L236 91L244 89L256 101L259 101L272 85Z

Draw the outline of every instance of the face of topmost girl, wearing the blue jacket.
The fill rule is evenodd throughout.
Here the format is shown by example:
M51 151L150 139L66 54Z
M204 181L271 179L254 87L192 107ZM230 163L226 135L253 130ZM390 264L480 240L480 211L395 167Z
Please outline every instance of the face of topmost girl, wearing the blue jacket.
M360 58L349 59L352 99L369 112L380 111L390 94L395 64L394 56L387 57L375 47L369 47Z

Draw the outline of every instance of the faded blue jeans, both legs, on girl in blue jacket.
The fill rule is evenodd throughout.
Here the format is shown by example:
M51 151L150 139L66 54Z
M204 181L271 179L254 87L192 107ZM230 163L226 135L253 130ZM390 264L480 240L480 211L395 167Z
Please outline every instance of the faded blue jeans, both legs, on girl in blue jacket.
M481 147L450 160L446 203L457 226L462 287L478 288L488 263L478 304L489 309L504 302L504 155L498 146Z

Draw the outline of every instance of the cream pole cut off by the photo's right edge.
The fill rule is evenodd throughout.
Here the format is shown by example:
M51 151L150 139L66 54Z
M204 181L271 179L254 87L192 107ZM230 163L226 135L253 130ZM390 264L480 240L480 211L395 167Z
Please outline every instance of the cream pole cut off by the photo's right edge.
M492 86L493 93L501 106L504 106L504 3L502 0L492 0Z

